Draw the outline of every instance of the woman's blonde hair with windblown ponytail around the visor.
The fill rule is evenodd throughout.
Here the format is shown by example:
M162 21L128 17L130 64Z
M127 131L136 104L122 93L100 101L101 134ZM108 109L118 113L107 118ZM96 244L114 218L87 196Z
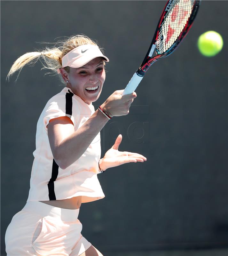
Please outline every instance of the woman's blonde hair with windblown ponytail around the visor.
M62 57L66 55L68 52L70 52L71 50L73 50L74 48L84 44L94 44L99 46L97 42L95 43L92 39L90 39L85 35L76 35L76 36L67 37L65 40L62 40L62 41L59 40L54 45L53 48L46 47L45 50L42 50L42 51L38 50L37 52L27 52L14 61L6 79L9 80L10 76L12 76L12 74L18 70L19 70L19 73L18 73L18 76L19 76L21 68L23 68L26 64L30 64L31 66L34 66L37 60L40 60L40 58L42 58L41 60L44 61L43 63L40 60L43 65L43 68L41 68L41 70L44 68L49 69L50 72L46 74L53 74L54 76L57 74L57 69L62 68ZM100 50L102 51L101 48ZM69 67L65 67L64 69L67 71L67 73L69 73L69 70L70 70ZM18 76L17 76L17 79L18 79ZM64 81L62 80L62 82Z

